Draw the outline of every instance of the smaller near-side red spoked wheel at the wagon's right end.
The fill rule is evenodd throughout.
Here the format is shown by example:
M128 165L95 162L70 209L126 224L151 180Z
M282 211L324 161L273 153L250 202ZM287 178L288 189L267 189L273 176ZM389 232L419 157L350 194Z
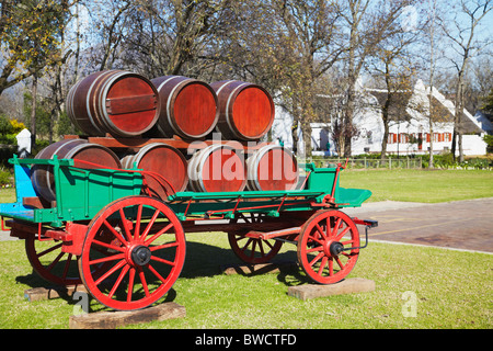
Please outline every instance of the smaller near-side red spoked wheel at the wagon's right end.
M320 284L343 280L359 256L358 229L345 213L323 210L302 226L298 261L307 275Z

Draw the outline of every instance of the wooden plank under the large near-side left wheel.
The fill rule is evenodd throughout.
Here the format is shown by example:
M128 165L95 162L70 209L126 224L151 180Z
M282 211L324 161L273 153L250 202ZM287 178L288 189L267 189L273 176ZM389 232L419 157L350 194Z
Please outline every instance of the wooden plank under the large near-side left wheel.
M185 307L176 303L164 303L158 306L130 312L98 312L92 314L83 314L80 316L70 316L69 328L115 329L127 325L184 317Z

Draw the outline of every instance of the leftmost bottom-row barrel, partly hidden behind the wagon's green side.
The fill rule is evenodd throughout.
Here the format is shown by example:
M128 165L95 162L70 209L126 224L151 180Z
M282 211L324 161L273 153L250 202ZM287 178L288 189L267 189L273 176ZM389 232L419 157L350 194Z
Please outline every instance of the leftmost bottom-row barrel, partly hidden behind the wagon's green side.
M119 159L111 149L84 139L66 139L54 143L41 150L35 159L53 159L55 155L58 156L58 159L74 159L98 165L76 162L76 167L84 169L99 169L100 165L113 169L122 168ZM34 165L31 170L31 182L41 197L48 202L56 200L51 166Z

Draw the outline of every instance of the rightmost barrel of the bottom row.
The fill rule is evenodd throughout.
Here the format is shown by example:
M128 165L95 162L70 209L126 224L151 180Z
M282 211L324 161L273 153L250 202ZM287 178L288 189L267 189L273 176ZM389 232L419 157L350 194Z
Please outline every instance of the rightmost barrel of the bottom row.
M294 190L298 184L295 155L279 145L266 145L246 159L246 189L253 191Z

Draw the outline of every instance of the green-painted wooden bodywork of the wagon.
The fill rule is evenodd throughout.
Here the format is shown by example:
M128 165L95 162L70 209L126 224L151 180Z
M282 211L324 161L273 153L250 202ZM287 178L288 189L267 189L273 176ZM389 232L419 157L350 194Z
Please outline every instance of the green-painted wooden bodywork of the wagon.
M89 220L111 202L130 195L139 195L142 177L138 172L106 169L80 169L73 167L71 159L19 159L13 165L50 165L54 167L56 182L56 206L53 208L26 210L15 206L0 215L33 223L49 223L62 226L67 220ZM344 189L339 186L336 168L316 168L305 165L308 180L302 190L291 191L241 191L241 192L177 192L169 196L168 204L184 220L191 216L233 217L237 213L265 213L279 216L280 212L313 211L332 193L337 207L360 206L371 196L369 190ZM22 203L18 199L16 203ZM131 214L129 214L131 215Z

